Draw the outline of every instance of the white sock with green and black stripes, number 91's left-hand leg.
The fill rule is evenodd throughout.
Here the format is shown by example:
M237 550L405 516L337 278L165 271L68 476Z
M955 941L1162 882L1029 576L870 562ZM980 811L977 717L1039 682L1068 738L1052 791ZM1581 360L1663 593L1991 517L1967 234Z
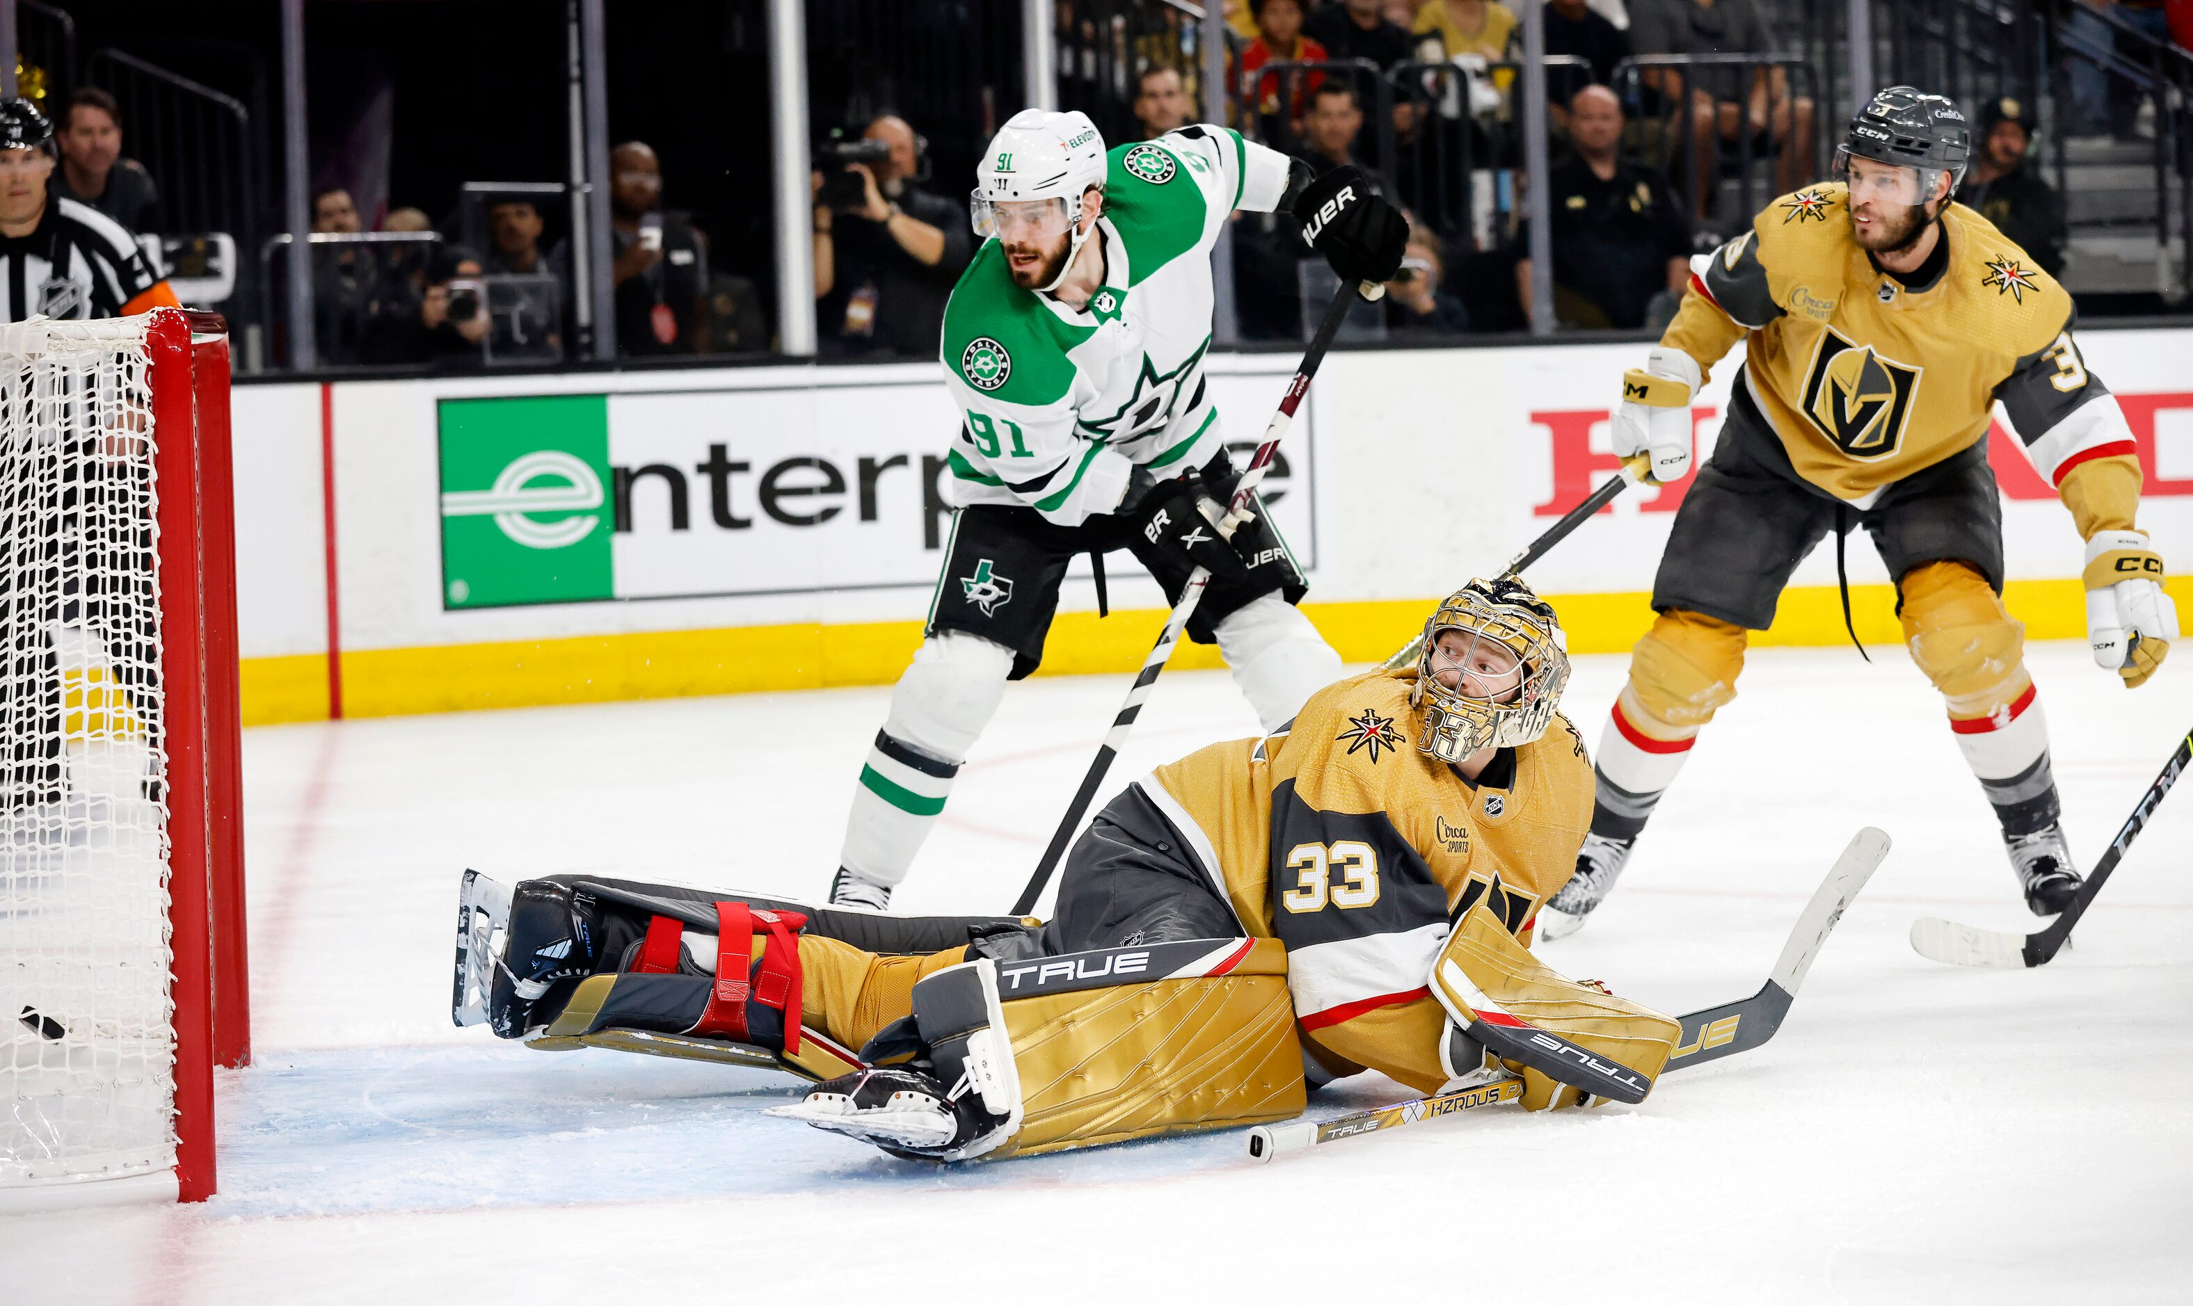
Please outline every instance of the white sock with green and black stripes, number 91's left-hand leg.
M980 635L943 631L914 651L860 769L840 866L879 885L906 879L1011 673L1013 651Z

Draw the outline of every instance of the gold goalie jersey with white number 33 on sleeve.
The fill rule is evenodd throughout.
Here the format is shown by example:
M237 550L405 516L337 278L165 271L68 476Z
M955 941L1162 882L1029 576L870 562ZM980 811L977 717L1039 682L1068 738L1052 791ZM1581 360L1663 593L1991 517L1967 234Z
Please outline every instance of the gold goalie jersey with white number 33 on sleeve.
M1243 933L1287 944L1305 1045L1331 1074L1436 1089L1445 1012L1425 990L1450 920L1489 898L1526 938L1577 868L1592 763L1566 717L1472 784L1410 738L1414 668L1327 686L1283 730L1217 743L1140 784L1224 887Z

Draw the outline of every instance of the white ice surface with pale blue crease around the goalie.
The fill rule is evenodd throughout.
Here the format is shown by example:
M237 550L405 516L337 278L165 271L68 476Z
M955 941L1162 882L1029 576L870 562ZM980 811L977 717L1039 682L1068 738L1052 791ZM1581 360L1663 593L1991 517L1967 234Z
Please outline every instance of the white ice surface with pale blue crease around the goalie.
M2035 920L1939 697L1873 653L1754 653L1621 890L1544 949L1664 1010L1750 993L1877 824L1895 850L1774 1043L1640 1107L1272 1166L1239 1133L910 1166L761 1118L787 1078L450 1026L465 866L818 894L886 690L248 732L257 1058L221 1082L221 1194L0 1216L0 1302L2189 1302L2193 793L2046 969L1925 962L1914 916ZM2092 861L2193 725L2193 666L2125 692L2077 644L2031 664ZM1588 741L1623 671L1579 660ZM1013 686L901 909L1007 907L1121 692ZM1112 782L1250 732L1222 673L1167 675Z

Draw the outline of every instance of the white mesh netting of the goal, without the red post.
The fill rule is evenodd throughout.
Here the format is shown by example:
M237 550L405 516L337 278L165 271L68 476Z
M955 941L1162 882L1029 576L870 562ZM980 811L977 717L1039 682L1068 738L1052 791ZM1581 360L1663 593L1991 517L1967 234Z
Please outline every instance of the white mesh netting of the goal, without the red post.
M175 1164L156 495L147 320L0 329L0 1188Z

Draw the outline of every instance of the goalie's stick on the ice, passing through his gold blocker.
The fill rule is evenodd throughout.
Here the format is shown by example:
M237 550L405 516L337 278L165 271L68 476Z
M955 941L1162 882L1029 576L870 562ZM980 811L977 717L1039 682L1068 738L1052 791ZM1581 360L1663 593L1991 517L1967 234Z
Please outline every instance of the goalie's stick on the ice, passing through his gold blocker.
M1814 958L1820 955L1820 944L1836 931L1842 912L1857 896L1857 890L1866 887L1866 881L1873 879L1873 870L1879 868L1884 857L1888 857L1888 835L1873 826L1857 830L1857 837L1851 839L1842 857L1836 859L1836 866L1829 868L1827 879L1811 892L1811 901L1798 914L1796 925L1789 929L1789 940L1783 944L1781 958L1774 962L1774 971L1768 973L1768 982L1759 986L1759 993L1682 1017L1682 1034L1675 1041L1675 1052L1669 1054L1667 1069L1660 1074L1750 1052L1772 1039L1781 1030L1783 1017L1789 1015L1789 1004L1796 1001L1796 990L1805 984L1805 973L1811 971ZM1248 1131L1248 1155L1254 1161L1270 1161L1283 1153L1298 1153L1344 1137L1436 1120L1476 1107L1496 1107L1518 1098L1522 1098L1522 1080L1504 1078L1489 1085L1432 1093L1430 1098L1395 1102L1393 1107L1351 1111L1333 1120L1259 1124Z

